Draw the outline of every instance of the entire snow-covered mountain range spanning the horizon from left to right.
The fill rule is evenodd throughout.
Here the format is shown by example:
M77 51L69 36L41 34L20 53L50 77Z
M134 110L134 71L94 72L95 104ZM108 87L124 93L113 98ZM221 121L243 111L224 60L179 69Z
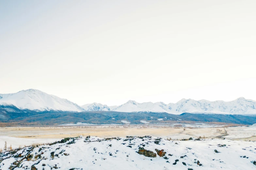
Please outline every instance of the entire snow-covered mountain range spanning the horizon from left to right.
M0 94L0 106L11 108L13 106L24 110L41 111L117 111L117 112L166 112L171 114L182 113L214 113L214 114L256 114L256 101L237 98L233 101L208 101L182 99L177 103L165 104L163 102L138 103L133 100L120 106L107 106L101 103L77 104L50 95L35 89L22 90L17 93Z

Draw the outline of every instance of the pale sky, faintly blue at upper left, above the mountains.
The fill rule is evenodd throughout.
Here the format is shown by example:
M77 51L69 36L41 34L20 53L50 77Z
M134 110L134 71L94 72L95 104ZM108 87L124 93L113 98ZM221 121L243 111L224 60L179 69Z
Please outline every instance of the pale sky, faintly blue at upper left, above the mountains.
M256 100L256 1L0 1L0 93Z

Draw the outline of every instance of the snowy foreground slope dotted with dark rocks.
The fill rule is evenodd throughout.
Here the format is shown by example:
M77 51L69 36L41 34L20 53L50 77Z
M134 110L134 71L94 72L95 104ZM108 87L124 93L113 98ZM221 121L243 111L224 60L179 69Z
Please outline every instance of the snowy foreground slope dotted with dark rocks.
M0 169L256 169L256 143L144 136L65 138L0 154Z

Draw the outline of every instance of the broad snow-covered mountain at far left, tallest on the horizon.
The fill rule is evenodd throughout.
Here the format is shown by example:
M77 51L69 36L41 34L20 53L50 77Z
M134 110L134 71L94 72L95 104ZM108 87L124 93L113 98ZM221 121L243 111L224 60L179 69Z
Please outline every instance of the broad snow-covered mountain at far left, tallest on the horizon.
M22 90L17 93L0 94L0 105L16 106L19 109L35 111L85 111L83 108L67 99L62 99L35 89Z

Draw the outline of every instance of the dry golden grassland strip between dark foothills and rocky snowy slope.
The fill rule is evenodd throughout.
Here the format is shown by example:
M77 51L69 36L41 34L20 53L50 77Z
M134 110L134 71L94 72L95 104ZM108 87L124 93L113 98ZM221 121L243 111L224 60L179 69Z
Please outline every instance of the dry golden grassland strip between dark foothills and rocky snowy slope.
M241 127L242 128L242 127ZM229 128L225 128L227 133ZM189 137L214 138L225 134L224 128L177 128L147 126L87 126L87 127L2 127L1 136L21 138L65 138L79 135L99 137L125 137L152 135L163 138L184 139Z

